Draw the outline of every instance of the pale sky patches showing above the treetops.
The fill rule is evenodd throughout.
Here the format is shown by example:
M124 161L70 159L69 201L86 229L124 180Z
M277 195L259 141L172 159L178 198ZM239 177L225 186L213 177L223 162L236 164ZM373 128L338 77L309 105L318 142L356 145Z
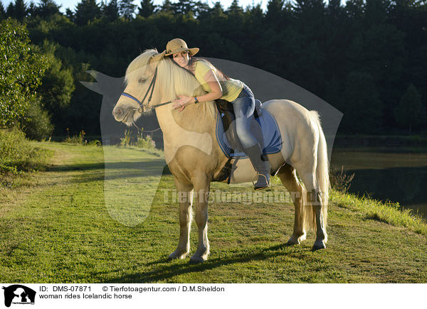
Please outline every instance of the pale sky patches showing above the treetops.
M9 6L9 3L14 0L0 0L0 1L3 2L4 9L6 9L7 6ZM24 0L24 1L26 3L31 2L31 0ZM33 0L33 1L36 4L39 2L38 0ZM65 13L65 9L71 9L74 11L76 4L80 2L80 0L53 0L53 1L55 1L56 4L61 5L60 11L62 11L63 13ZM202 0L202 1L207 2L211 7L214 6L214 3L216 2L216 0ZM100 3L100 2L101 0L97 0L97 3ZM171 2L177 2L177 0L171 0ZM233 2L233 0L221 0L221 4L223 5L224 9L227 9L228 6L230 6L231 2ZM133 3L139 6L141 1L135 0L133 1ZM154 4L156 5L162 5L162 3L163 3L163 0L154 0ZM239 0L238 1L238 4L240 4L240 6L242 6L243 8L246 8L246 6L252 6L253 4L261 4L261 8L264 11L267 9L267 3L268 3L268 0Z

